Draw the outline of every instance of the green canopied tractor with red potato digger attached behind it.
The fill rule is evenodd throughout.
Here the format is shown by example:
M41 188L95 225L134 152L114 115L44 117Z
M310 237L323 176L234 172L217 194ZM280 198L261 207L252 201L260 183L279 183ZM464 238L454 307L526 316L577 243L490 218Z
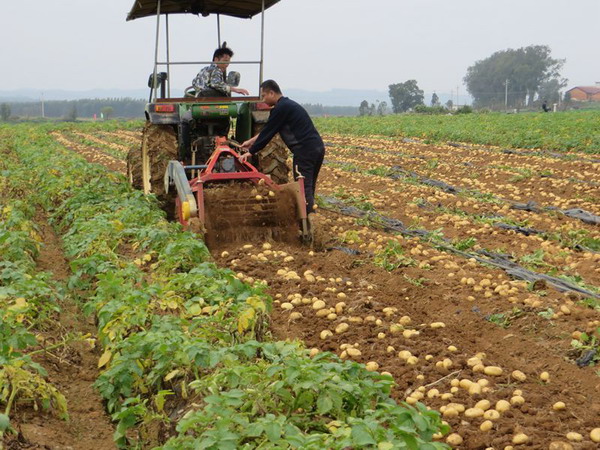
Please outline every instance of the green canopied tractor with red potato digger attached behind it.
M268 120L270 109L259 97L202 97L193 87L185 89L181 97L171 96L173 65L212 62L169 60L169 15L215 15L221 45L221 15L250 19L260 14L260 60L231 62L258 65L260 86L265 10L278 1L135 0L127 16L127 20L156 17L146 124L141 147L127 155L129 180L135 188L156 195L168 217L204 234L209 247L233 237L310 242L303 178L296 174L296 181L290 180L288 152L279 136L252 160L238 159L239 143L257 134ZM167 57L159 61L162 17ZM229 72L226 79L227 84L238 86L240 74Z

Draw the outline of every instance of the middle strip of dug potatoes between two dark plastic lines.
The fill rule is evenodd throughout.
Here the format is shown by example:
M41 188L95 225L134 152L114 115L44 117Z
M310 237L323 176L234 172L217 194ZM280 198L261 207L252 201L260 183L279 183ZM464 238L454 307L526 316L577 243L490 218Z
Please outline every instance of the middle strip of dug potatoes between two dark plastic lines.
M489 213L468 215L461 213L458 205L461 208L473 205L472 201L456 201L453 195L442 191L430 192L423 198L417 197L420 193L418 187L415 189L407 185L398 192L396 184L390 185L389 181L377 176L355 173L352 179L348 179L344 171L328 167L324 173L327 178L321 183L321 192L333 194L345 203L364 210L377 209L402 221L407 227L428 230L440 239L450 240L459 250L487 249L508 254L534 271L571 277L582 285L600 286L600 255L595 253L600 245L600 235L587 232L580 226L573 228L572 223L562 216L545 223L545 227L538 224L536 229L540 229L540 233L527 236L510 227L497 226L503 223L528 228L523 227L527 225L527 219L515 220L527 213L512 212L509 218L506 205L490 206ZM393 200L389 201L390 198ZM477 207L476 204L473 206ZM542 231L544 229L547 231ZM579 247L584 242L593 249Z

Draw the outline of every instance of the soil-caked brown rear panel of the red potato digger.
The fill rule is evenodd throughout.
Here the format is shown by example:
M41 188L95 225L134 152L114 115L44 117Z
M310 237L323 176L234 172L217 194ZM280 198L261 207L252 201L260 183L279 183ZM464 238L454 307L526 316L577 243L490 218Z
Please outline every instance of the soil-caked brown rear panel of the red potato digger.
M296 198L288 190L228 183L204 190L205 241L209 248L232 242L298 242Z

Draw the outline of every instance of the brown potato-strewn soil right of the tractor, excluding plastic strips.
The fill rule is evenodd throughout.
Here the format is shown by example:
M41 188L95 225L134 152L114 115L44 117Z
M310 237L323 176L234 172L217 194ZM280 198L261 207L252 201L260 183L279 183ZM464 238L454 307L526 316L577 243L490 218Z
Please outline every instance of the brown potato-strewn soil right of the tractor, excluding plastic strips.
M549 236L526 237L487 227L473 217L502 214L514 221L526 220L548 234L558 233L561 239L568 231L598 238L597 227L559 213L510 209L512 202L535 200L541 206L578 206L598 214L597 162L583 157L565 160L543 152L541 156L508 154L494 148L382 138L327 136L326 141L327 159L360 170L326 165L319 179L319 194L341 192L348 196L346 201L371 205L405 225L429 231L442 228L446 237L455 240L476 237L481 248L508 250L517 258L542 249L544 262L557 274L581 275L589 286L600 285L597 253L577 250ZM368 168L399 163L421 176L501 201L493 203L415 180L394 181L364 173ZM515 167L522 171L510 172ZM552 176L542 176L542 169L551 171ZM534 175L529 176L531 173ZM519 174L528 176L511 181ZM417 199L424 203L415 202ZM440 206L461 209L467 216L454 217L456 214ZM489 400L491 408L498 400L513 402L487 432L479 428L481 417L445 416L453 432L464 439L460 448L506 448L513 436L522 432L529 436L525 448L546 449L551 442L567 443L566 434L573 431L583 435L581 442L569 442L573 449L598 448L589 432L600 426L600 377L596 367L575 364L581 352L574 353L571 345L580 333L593 334L600 326L597 309L581 303L575 294L560 293L543 283L528 286L502 270L443 253L427 242L386 233L376 224L323 209L315 219L320 245L312 249L256 236L242 243L221 240L212 247L217 262L246 282L268 283L274 298L271 332L275 338L300 339L307 347L345 358L349 358L347 345L352 345L360 350L356 361L376 361L380 371L394 377L393 396L398 401L420 398L438 410L449 403L468 409L482 399ZM395 256L400 255L405 264L387 271L380 263L390 240L400 245ZM263 241L267 245L263 246ZM392 262L395 256L391 256ZM545 266L536 269L543 271ZM316 299L325 302L328 316L315 309ZM349 327L336 333L341 323ZM322 338L324 330L331 335ZM418 334L410 337L407 330ZM401 357L403 350L415 359ZM483 366L498 366L502 373L485 374L483 366L469 361L475 355ZM512 375L515 370L523 372L526 379L517 381ZM540 378L543 372L548 372L548 381ZM465 379L477 382L481 389L469 393L455 386ZM522 404L513 398L518 391ZM558 401L566 404L564 410L553 409Z

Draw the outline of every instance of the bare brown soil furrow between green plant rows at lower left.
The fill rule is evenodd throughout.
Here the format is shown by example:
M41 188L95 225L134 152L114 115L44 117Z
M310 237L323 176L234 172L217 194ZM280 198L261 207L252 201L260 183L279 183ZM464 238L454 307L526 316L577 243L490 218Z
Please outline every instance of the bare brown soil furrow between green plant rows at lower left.
M66 283L71 271L60 239L45 219L41 218L37 224L44 241L37 259L38 268ZM65 298L60 308L56 322L42 333L47 344L60 342L67 333L95 336L94 324L83 316L73 300ZM69 420L61 420L51 413L17 409L12 421L19 434L7 437L7 448L115 449L114 427L92 386L98 377L98 358L98 351L81 341L36 357L36 362L47 370L48 381L67 399Z

